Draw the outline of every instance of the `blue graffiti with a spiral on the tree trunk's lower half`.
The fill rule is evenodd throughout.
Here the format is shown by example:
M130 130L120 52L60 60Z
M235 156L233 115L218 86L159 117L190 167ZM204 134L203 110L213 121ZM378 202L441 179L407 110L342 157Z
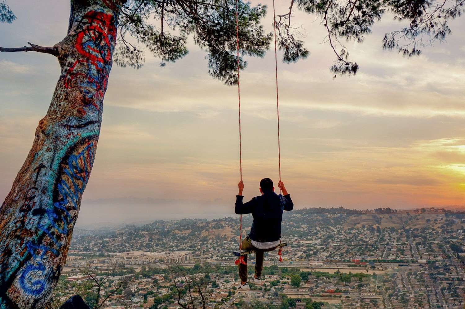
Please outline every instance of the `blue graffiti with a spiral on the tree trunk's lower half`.
M50 280L46 278L44 262L47 259L64 258L62 249L64 245L68 245L66 239L71 236L79 211L79 201L92 170L97 141L98 135L95 132L70 142L69 147L62 151L61 161L55 164L58 173L53 181L52 207L31 210L32 216L39 222L39 233L24 242L24 248L21 249L22 259L14 267L16 271L10 268L13 271L8 272L9 276L5 274L0 290L8 287L5 283L10 283L8 285L11 286L15 277L18 277L17 288L26 295L37 297L48 288ZM26 204L33 200L35 193L35 188L29 190ZM25 205L23 211L32 207L33 203ZM59 270L55 275L59 276Z

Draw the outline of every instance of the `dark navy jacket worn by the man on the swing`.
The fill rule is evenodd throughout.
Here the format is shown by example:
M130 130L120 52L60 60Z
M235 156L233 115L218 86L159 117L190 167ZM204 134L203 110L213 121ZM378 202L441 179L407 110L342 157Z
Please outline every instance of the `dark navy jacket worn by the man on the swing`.
M294 208L289 194L282 196L267 192L243 203L241 195L236 195L236 213L252 213L253 223L249 237L254 241L269 242L281 238L283 210Z

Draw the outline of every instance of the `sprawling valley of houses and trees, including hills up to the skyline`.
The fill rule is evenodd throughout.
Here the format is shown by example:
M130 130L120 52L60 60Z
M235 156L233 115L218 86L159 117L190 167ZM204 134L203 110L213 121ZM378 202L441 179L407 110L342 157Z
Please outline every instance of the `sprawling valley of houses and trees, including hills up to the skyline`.
M98 308L462 308L462 216L294 211L283 219L283 261L266 253L265 280L247 292L237 290L234 218L77 230L54 299L80 291ZM250 276L254 266L252 254Z

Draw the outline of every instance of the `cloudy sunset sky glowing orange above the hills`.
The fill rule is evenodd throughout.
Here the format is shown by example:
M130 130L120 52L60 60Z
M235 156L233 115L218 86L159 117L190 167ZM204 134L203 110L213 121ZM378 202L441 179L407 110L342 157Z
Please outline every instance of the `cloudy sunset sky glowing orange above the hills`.
M252 1L256 3L257 1ZM258 2L257 2L258 3ZM262 1L271 5L270 0ZM0 45L52 46L66 35L69 2L7 1L17 20ZM280 1L278 12L286 12ZM296 12L310 56L278 63L281 168L296 208L465 206L465 18L444 43L404 58L383 51L385 15L362 44L360 66L337 77L325 32ZM263 22L272 31L272 10ZM239 181L237 88L208 75L205 52L162 68L146 53L140 70L110 73L99 146L77 226L234 215ZM278 55L279 57L279 55ZM244 195L278 181L274 52L246 58L241 72ZM60 67L34 52L0 54L0 196L7 196L45 115Z

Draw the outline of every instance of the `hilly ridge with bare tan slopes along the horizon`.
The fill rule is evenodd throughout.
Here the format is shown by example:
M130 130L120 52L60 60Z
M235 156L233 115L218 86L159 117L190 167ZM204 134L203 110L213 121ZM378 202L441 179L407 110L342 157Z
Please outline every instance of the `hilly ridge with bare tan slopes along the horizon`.
M374 228L374 229L422 229L438 230L463 229L465 212L452 211L445 208L418 208L411 210L396 210L378 208L375 210L352 210L339 208L304 208L285 212L283 215L283 234L306 237L307 231L319 226L333 226L343 229ZM252 216L243 216L243 226L250 229ZM114 231L129 232L151 231L167 238L190 237L198 235L202 238L233 238L239 236L239 216L220 219L181 219L157 220L147 224L132 224L86 230L75 229L75 234L86 233L106 234Z

